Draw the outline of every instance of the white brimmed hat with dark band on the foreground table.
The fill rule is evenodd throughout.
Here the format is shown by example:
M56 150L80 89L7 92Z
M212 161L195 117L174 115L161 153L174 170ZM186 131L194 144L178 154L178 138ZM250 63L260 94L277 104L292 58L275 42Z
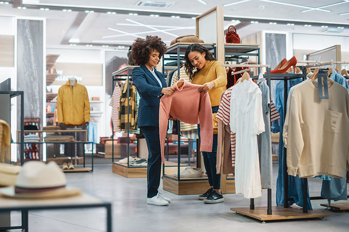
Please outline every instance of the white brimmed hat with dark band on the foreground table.
M0 194L13 198L60 198L76 196L82 191L67 187L66 178L55 162L26 162L19 171L15 186L0 189Z

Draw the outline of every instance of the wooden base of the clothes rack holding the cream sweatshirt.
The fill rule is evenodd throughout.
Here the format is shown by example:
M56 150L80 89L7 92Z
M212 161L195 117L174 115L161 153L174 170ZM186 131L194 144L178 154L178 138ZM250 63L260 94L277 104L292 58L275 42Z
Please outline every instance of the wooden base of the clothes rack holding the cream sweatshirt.
M303 213L302 208L284 208L283 206L273 206L272 214L267 214L268 207L255 207L250 210L249 207L231 208L230 210L245 216L253 217L262 222L276 221L276 220L291 220L291 219L308 219L308 218L324 218L329 217L330 214L320 211L309 210L307 214Z

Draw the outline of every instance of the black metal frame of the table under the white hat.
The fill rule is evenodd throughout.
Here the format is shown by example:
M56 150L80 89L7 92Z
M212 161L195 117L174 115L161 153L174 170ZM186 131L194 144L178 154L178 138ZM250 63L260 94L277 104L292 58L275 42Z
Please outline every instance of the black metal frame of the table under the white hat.
M107 232L112 232L112 205L109 202L95 203L95 204L81 204L81 205L55 205L55 206L27 206L27 207L5 207L0 208L0 212L21 211L22 220L20 226L0 227L0 230L16 230L28 232L28 211L29 210L55 210L55 209L81 209L81 208L99 208L104 207L107 210Z

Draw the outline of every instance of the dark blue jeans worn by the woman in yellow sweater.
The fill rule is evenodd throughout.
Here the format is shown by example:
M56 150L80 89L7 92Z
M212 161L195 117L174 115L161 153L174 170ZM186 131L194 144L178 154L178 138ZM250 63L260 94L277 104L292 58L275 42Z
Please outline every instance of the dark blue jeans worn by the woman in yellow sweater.
M212 107L212 112L217 113L218 107ZM197 125L197 133L200 140L200 125ZM217 164L217 144L218 144L218 134L213 134L213 144L212 152L202 152L202 157L204 160L204 165L206 169L207 177L209 178L210 186L213 189L220 189L220 174L217 174L216 164Z

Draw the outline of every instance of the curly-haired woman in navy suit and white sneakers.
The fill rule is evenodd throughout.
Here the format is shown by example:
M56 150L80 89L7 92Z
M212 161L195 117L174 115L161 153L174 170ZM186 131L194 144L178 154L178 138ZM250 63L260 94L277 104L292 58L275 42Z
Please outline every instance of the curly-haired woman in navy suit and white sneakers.
M163 73L154 69L166 50L165 43L157 36L137 38L132 44L132 58L140 65L132 71L132 80L140 95L137 125L148 146L147 204L152 205L168 205L171 202L157 191L161 175L160 97L172 95L175 90L167 87Z

